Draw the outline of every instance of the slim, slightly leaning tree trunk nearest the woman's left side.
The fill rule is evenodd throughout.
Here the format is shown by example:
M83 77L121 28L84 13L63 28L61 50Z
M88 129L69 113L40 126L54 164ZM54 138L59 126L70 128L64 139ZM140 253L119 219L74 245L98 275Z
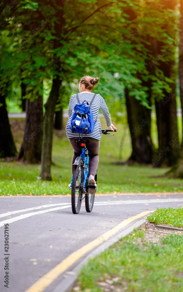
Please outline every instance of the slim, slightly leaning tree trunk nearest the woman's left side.
M59 88L61 81L57 75L56 79L53 79L51 92L47 103L45 104L44 115L44 128L43 128L43 142L42 142L42 154L41 154L41 173L42 180L51 180L51 150L53 140L53 126L54 126L54 112L56 101L59 96Z

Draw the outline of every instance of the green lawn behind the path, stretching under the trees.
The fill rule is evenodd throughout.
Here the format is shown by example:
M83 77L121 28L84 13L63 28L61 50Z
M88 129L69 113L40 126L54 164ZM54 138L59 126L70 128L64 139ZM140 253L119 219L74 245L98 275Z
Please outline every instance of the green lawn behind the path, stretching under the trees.
M19 123L18 119L17 120ZM66 123L66 120L65 120ZM16 123L15 123L16 124ZM105 120L101 118L102 128L106 128ZM102 135L100 141L98 166L98 193L106 192L177 192L183 191L181 179L168 179L162 177L168 168L152 168L151 166L125 166L116 165L117 161L125 161L131 154L131 141L126 119L115 123L117 132L112 135ZM16 124L17 125L17 124ZM15 132L17 148L21 146L21 129ZM155 126L154 126L155 137ZM126 140L125 140L126 139ZM124 146L119 150L121 142ZM73 150L65 135L60 138L54 133L51 166L52 181L39 179L40 165L21 164L0 161L0 195L13 194L67 194L70 183L71 161ZM159 177L161 176L161 177Z

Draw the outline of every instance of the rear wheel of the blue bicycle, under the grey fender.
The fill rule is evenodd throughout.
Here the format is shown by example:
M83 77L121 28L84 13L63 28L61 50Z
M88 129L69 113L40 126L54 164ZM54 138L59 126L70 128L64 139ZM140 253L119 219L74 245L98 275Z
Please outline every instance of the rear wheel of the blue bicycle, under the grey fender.
M83 181L84 181L83 159L80 159L79 164L74 165L72 178L71 204L73 214L78 214L81 208L83 197Z

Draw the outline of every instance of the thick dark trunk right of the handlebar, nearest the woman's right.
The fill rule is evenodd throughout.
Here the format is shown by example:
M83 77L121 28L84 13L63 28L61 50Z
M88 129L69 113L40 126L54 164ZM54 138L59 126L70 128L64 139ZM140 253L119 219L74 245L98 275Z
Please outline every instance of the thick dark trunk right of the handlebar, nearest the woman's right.
M127 162L151 164L154 146L151 140L151 110L125 90L127 116L132 139L132 154Z

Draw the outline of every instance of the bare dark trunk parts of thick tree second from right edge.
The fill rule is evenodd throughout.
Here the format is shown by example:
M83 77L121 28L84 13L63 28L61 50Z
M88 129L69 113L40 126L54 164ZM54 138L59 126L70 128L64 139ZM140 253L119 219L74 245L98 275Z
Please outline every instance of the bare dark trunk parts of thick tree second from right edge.
M166 3L164 9L174 10L175 1L170 0ZM172 14L173 15L173 14ZM172 166L180 157L180 145L177 127L177 108L176 108L176 83L175 83L175 58L173 46L166 46L164 49L164 42L157 41L156 38L151 38L152 55L154 60L151 61L151 67L158 67L165 77L173 80L169 83L171 92L163 91L164 98L162 100L155 100L156 116L157 116L157 129L158 129L158 142L159 151L156 155L153 165L155 167ZM164 53L162 53L164 52ZM166 56L166 61L162 56ZM155 65L157 64L157 65Z

